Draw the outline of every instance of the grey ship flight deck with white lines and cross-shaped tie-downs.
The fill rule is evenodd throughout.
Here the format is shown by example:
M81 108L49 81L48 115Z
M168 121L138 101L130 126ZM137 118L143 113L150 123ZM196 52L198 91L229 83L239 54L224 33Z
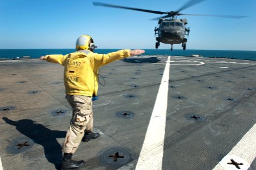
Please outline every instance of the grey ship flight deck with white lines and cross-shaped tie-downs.
M0 170L60 169L64 67L0 61ZM256 169L256 61L137 56L100 68L81 169Z

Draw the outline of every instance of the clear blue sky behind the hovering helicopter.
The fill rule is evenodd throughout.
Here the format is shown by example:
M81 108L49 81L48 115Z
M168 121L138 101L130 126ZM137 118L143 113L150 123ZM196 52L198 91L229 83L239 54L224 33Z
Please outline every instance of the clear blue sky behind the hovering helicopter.
M90 35L100 49L154 49L159 14L94 6L93 2L175 11L188 0L0 0L0 49L73 49ZM186 18L187 49L256 50L255 0L205 0L183 14L242 15L242 19L209 16ZM181 44L174 49L182 49ZM170 49L169 44L159 49Z

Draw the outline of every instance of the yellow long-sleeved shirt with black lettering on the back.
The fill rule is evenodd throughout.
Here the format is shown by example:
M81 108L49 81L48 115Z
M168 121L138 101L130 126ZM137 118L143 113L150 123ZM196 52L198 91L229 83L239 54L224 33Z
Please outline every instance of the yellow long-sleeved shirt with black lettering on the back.
M98 92L98 70L107 63L129 57L130 50L97 54L89 50L77 51L65 56L47 55L48 62L60 63L64 69L66 94L93 96Z

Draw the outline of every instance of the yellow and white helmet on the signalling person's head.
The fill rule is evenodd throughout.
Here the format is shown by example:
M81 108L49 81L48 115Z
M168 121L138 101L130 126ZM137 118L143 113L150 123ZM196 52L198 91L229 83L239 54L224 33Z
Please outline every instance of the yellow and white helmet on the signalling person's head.
M76 50L89 49L93 51L95 48L97 48L97 46L93 44L93 39L89 35L82 35L78 37L77 42L75 44Z

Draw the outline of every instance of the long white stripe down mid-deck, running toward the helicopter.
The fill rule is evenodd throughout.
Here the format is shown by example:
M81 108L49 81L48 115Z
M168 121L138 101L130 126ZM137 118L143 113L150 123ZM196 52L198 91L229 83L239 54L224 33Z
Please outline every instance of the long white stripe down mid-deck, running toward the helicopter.
M169 85L170 56L158 90L157 99L146 131L143 146L136 165L139 169L162 169L163 142L165 141L165 122Z

